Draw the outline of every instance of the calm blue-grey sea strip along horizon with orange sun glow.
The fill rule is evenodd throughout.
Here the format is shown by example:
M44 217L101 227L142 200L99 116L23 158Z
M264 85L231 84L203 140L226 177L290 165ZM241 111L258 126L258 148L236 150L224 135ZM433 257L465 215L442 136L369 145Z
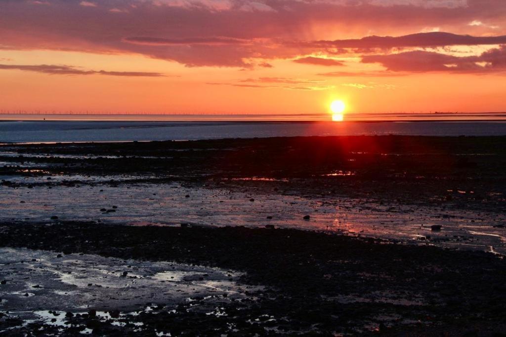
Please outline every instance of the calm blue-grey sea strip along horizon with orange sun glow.
M506 135L506 113L0 115L0 142L104 142L335 135Z

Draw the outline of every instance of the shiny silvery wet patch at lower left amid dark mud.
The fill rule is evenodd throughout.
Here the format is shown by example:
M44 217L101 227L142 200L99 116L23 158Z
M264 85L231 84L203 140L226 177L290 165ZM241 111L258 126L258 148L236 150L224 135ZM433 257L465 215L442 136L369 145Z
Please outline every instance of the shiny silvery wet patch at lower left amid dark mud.
M125 312L146 303L176 306L192 297L231 301L259 289L241 284L237 272L172 262L1 248L0 263L0 279L7 281L0 287L0 311L17 312L24 319L37 319L47 310Z

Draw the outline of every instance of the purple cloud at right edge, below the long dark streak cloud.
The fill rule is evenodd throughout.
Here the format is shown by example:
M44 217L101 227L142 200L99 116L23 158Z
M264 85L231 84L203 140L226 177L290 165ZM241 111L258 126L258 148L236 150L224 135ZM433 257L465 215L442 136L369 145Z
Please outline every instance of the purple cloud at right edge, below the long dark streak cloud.
M379 63L387 70L394 72L504 72L506 71L506 45L479 56L456 57L435 52L413 51L364 56L362 62Z

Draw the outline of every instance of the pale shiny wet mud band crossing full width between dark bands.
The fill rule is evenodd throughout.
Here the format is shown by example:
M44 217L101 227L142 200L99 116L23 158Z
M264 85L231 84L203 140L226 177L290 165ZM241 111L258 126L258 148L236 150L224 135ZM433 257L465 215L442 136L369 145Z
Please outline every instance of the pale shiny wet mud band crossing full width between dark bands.
M176 182L123 184L121 181L125 177L121 175L53 175L51 180L44 175L11 177L25 185L0 188L0 221L44 222L58 216L58 221L137 226L273 225L461 249L490 251L492 247L494 251L506 253L500 227L506 221L506 215L487 211L448 210L333 196L250 192L248 188L240 191L205 188ZM128 176L125 180L135 178ZM67 183L68 179L76 179L75 184ZM235 179L264 182L264 187L269 190L267 186L271 181L280 180L268 177ZM34 185L28 186L28 182ZM68 200L73 202L66 202ZM107 212L112 211L113 205L117 207L114 212ZM304 220L306 215L310 215L310 219ZM431 231L431 225L441 225L442 230Z

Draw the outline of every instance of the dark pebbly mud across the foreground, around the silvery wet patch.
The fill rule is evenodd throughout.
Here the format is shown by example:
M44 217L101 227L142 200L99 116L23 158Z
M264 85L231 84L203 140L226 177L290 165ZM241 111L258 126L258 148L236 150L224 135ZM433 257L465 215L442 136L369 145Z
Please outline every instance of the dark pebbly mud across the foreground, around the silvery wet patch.
M97 311L107 309L93 302L87 308L65 308L71 310L74 316L66 317L68 323L59 327L41 321L31 323L38 325L26 325L23 320L16 320L19 314L4 311L2 329L12 335L35 326L43 331L58 329L59 333L91 327L91 331L85 332L103 331L117 335L127 331L146 335L294 335L309 332L333 335L410 331L424 331L424 335L445 332L450 335L473 332L492 335L503 331L506 324L504 260L485 252L396 245L370 238L293 229L55 223L2 224L0 231L0 242L8 243L6 246L11 247L9 252L28 248L21 250L23 256L37 260L23 262L33 264L28 273L22 272L26 267L19 267L20 261L11 259L11 265L4 263L0 272L7 282L0 288L4 299L2 310L23 306L23 301L13 300L14 295L9 295L7 287L13 287L17 294L25 291L33 293L26 301L35 301L32 299L37 296L44 297L44 292L71 291L70 288L61 290L61 286L53 284L51 279L41 284L44 285L43 290L27 290L26 284L41 283L37 273L44 271L39 271L36 266L41 263L38 260L45 261L44 256L60 261L51 264L53 269L70 263L65 261L71 261L74 268L81 268L82 265L75 262L77 259L89 261L87 270L93 270L97 264L107 270L104 261L111 261L116 268L114 277L122 277L118 275L130 269L125 268L125 264L134 263L123 260L141 260L142 263L137 262L139 267L146 261L153 261L141 272L132 272L131 276L138 279L121 280L123 283L136 280L139 285L146 278L155 279L152 270L170 270L160 267L159 261L174 261L177 265L186 266L205 265L209 266L205 268L220 268L213 270L227 272L235 270L241 274L233 280L236 282L234 287L242 287L245 291L242 298L227 301L221 300L226 289L217 291L212 295L215 296L214 301L210 301L216 305L215 308L206 305L205 297L186 293L182 297L193 301L183 301L174 308L178 296L166 295L166 302L163 302L163 293L160 294L170 292L173 286L153 286L152 292L158 302L156 307L159 306L157 311L146 311L144 305L137 309L141 312L136 314L132 314L128 305L117 308L123 315L123 322L134 324L126 330L124 326L115 325L116 320L108 320L105 316L92 319L81 315L94 306L97 306ZM36 239L27 239L30 236ZM13 258L20 257L16 255L19 253L11 254ZM101 257L94 259L93 255ZM18 272L9 271L12 268ZM92 273L90 276L93 278L93 272L88 273ZM219 271L217 273L220 274ZM207 274L209 277L214 275ZM77 273L72 277L78 278L79 275ZM192 281L196 282L192 286L198 287L199 281L206 282L205 279ZM77 290L74 287L74 291L88 295L95 291L93 286L89 288L88 285L79 290L79 284L82 282L77 284ZM65 286L68 284L65 283ZM251 287L249 290L248 286ZM139 293L131 291L142 295L146 290ZM196 306L191 306L195 298ZM60 309L57 311L63 311L61 306L51 302L44 310L55 310L51 305ZM77 313L80 315L76 316ZM97 320L98 323L95 322Z

